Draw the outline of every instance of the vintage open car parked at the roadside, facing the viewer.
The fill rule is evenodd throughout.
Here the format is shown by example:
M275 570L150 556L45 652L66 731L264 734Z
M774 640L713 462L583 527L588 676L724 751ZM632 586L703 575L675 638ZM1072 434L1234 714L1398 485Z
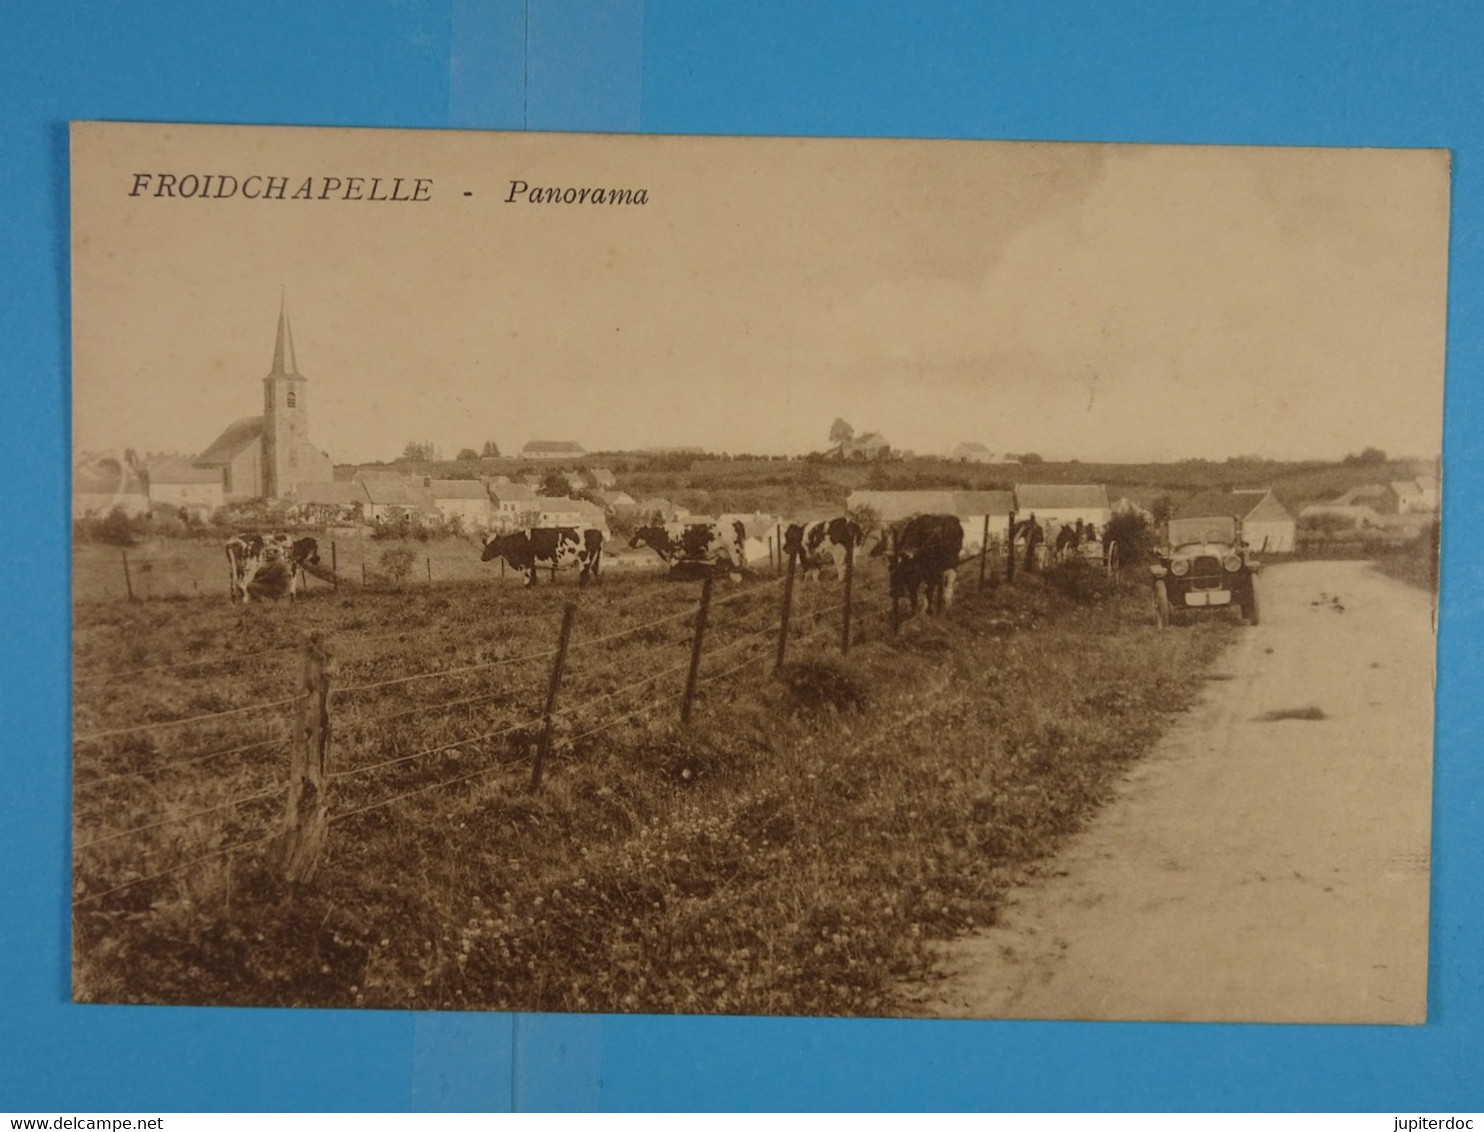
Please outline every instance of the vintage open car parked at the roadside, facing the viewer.
M1155 574L1155 623L1160 629L1178 613L1241 610L1257 625L1258 562L1230 516L1169 519Z

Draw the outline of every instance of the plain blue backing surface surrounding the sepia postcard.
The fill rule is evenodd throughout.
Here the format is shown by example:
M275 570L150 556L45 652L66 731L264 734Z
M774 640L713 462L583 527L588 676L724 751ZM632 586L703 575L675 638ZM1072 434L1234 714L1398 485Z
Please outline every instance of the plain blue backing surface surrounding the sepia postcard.
M1484 1107L1484 6L15 0L0 59L0 1110ZM71 1006L70 119L1450 148L1428 1025Z

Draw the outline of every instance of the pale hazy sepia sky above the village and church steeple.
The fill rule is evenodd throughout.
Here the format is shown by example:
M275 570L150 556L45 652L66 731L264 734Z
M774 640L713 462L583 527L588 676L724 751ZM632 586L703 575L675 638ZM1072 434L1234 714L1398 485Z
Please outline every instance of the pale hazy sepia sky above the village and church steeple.
M260 412L280 304L337 463L797 454L837 417L938 454L1441 451L1439 150L82 123L71 184L79 451L190 455Z

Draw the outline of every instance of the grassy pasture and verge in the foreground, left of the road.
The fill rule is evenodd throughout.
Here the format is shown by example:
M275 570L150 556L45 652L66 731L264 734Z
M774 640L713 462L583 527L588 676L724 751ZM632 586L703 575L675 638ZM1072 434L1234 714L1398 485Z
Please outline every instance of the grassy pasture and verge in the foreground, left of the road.
M948 617L893 636L862 564L844 659L838 582L800 585L778 677L781 583L718 583L687 725L699 583L79 602L74 996L893 1013L926 941L993 921L1233 632L1159 634L1137 583L965 574ZM340 665L329 850L289 886L279 702L309 629Z

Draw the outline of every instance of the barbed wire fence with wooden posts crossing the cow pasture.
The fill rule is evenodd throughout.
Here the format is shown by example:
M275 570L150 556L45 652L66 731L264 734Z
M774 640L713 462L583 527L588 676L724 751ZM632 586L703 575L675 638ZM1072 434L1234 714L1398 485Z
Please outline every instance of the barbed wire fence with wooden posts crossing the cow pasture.
M985 539L957 568L976 565L981 586L997 585L999 570L987 573L988 555ZM509 635L499 656L375 679L359 678L358 666L374 660L365 650L416 636L416 628L335 636L312 631L298 647L82 674L82 682L187 672L230 678L243 662L298 660L291 696L74 734L74 906L144 893L125 896L123 906L139 909L148 906L150 884L209 862L226 863L230 887L232 862L246 850L276 859L288 880L309 880L331 826L491 774L528 770L536 791L558 746L576 752L660 712L677 712L686 724L697 697L778 672L803 648L847 654L884 635L881 619L862 617L864 610L890 601L892 632L901 626L886 571L858 571L855 559L850 547L834 585L800 585L792 556L770 561L781 573L720 596L708 576L693 604L659 617L620 617L601 632L585 632L579 604L567 602L549 647ZM644 593L629 595L601 608L611 625L614 613L641 599ZM552 631L549 613L518 620ZM331 739L343 758L350 755L337 766ZM163 760L162 743L169 751ZM368 751L372 757L356 758ZM212 774L200 773L212 764ZM172 777L184 785L171 786ZM108 828L101 788L125 780L138 791L132 823ZM96 826L107 832L82 835Z

